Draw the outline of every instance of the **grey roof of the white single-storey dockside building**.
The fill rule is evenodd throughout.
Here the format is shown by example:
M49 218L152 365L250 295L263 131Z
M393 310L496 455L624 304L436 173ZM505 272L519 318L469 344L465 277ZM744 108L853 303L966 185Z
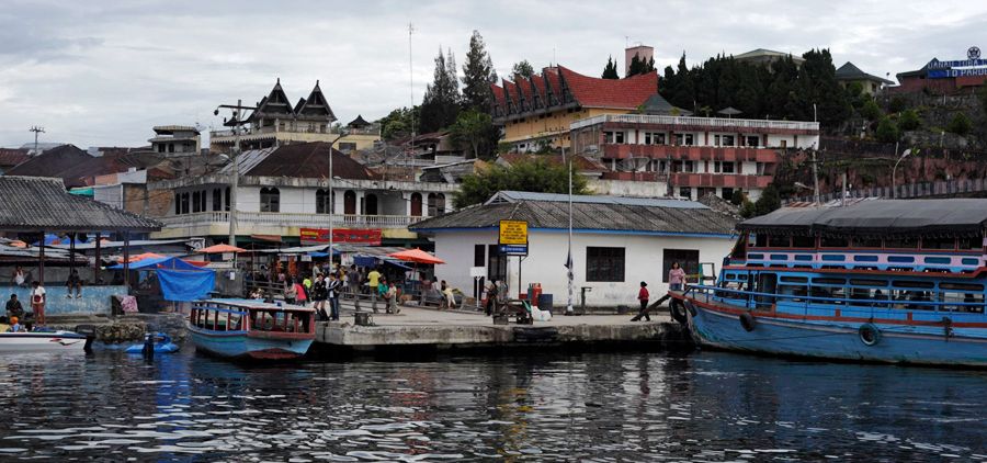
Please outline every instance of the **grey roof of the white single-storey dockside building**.
M569 225L565 194L518 193L428 218L409 226L415 232L490 228L502 219L526 221L530 228L565 229ZM513 192L517 193L517 192ZM495 197L498 197L495 196ZM574 196L572 228L580 230L729 235L736 222L700 203L677 200Z

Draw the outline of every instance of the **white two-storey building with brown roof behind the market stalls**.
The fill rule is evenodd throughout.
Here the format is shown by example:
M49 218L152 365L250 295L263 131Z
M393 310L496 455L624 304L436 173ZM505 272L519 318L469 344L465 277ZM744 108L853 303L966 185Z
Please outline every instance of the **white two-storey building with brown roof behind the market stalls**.
M332 156L332 172L329 156ZM451 211L455 184L385 180L328 143L296 143L242 153L219 172L154 182L149 195L166 195L170 207L155 238L211 237L226 241L231 207L237 241L298 244L328 238L330 214L336 242L422 245L408 225ZM232 174L239 176L231 194ZM329 179L332 178L330 188ZM236 197L236 205L230 204Z

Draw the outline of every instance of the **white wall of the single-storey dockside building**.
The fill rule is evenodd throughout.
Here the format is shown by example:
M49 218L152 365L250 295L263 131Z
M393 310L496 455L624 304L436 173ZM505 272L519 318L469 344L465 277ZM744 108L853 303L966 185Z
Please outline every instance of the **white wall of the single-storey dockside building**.
M568 297L568 280L564 267L567 252L566 232L533 230L529 237L529 256L521 267L521 289L530 283L542 284L542 292L553 294L556 307L565 306ZM474 245L496 245L496 230L444 232L435 234L435 255L446 264L438 266L436 276L449 281L464 293L470 294L473 279L469 268L474 262ZM662 282L671 262L663 262L665 249L693 249L700 251L700 262L715 262L719 271L723 257L734 245L734 238L706 238L680 236L651 236L609 233L576 233L572 236L575 269L574 304L579 304L581 286L591 287L587 305L614 307L635 306L642 281L648 282L653 300L668 291ZM625 249L625 276L622 282L587 282L587 247L623 247ZM485 259L486 260L486 259ZM518 294L518 261L508 263L508 284L512 295Z

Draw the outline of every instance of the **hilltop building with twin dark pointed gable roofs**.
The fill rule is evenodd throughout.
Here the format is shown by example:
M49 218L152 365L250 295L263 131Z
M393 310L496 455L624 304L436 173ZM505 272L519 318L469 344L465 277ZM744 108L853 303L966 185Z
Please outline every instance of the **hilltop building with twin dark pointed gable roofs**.
M240 127L240 149L271 148L291 143L332 142L343 129L333 125L337 121L332 108L326 100L319 82L308 98L299 99L292 105L281 79L271 89L271 92L257 103ZM230 129L213 131L209 133L209 150L212 153L229 153L237 140L236 128L238 122L226 121ZM371 124L358 116L345 129L345 135L339 139L337 147L341 150L370 149L381 140L381 127Z

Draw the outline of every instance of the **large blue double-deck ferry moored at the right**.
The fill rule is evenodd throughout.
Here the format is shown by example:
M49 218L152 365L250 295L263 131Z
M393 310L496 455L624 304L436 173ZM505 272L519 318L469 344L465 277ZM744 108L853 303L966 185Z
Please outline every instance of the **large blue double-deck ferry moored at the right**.
M670 293L700 343L987 366L987 200L785 207L738 229L715 285Z

